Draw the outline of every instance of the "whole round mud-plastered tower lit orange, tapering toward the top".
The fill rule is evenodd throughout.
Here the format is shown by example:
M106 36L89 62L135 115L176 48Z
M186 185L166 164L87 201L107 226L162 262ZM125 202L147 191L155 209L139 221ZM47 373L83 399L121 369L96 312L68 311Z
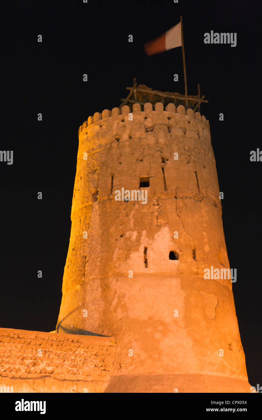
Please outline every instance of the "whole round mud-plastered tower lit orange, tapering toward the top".
M114 336L105 392L250 392L231 280L204 278L230 268L209 122L129 105L79 128L56 332Z

